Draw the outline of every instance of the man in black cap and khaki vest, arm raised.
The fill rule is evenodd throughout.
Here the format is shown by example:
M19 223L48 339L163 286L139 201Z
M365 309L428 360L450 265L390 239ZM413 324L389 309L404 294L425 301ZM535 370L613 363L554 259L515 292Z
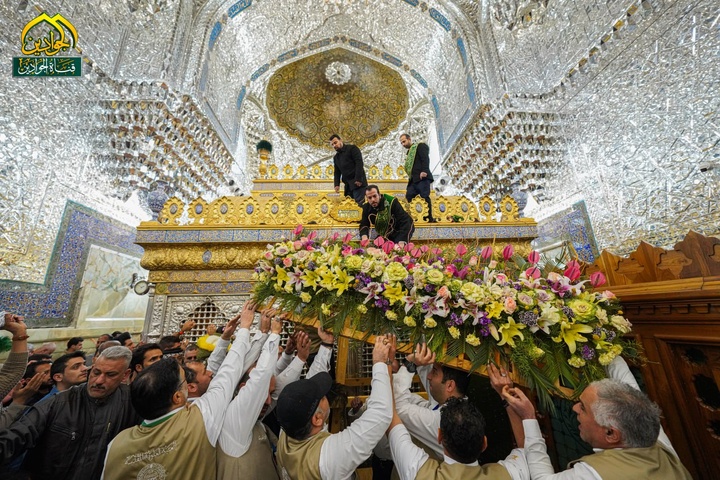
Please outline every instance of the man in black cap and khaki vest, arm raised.
M389 366L394 355L394 337L376 337L367 410L339 433L326 431L330 415L326 395L332 387L328 373L321 372L285 387L276 410L282 427L277 460L283 478L345 480L354 475L390 424Z

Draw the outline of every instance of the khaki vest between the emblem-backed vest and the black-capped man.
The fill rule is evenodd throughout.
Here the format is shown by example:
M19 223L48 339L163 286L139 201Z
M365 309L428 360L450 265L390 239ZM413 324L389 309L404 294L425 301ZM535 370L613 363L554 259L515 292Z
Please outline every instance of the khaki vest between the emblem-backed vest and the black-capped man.
M280 478L275 469L273 445L277 437L262 424L257 422L253 427L250 448L240 457L233 457L217 449L218 479L257 478L271 480Z

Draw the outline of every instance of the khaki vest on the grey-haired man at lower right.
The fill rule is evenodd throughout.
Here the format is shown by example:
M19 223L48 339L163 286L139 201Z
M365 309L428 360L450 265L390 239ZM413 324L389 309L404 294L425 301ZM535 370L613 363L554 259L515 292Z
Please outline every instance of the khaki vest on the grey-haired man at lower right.
M648 448L603 450L577 461L587 463L608 480L692 480L680 460L659 443Z

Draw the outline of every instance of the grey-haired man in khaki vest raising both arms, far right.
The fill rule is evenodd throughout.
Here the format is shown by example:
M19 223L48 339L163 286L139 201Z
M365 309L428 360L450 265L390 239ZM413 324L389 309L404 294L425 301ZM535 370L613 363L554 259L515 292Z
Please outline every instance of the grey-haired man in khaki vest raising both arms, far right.
M692 477L660 426L660 408L640 391L625 361L617 357L608 366L608 374L610 379L591 383L573 407L580 438L595 453L572 462L568 470L557 474L535 419L535 407L520 389L503 388L503 398L523 419L531 478L690 480Z

